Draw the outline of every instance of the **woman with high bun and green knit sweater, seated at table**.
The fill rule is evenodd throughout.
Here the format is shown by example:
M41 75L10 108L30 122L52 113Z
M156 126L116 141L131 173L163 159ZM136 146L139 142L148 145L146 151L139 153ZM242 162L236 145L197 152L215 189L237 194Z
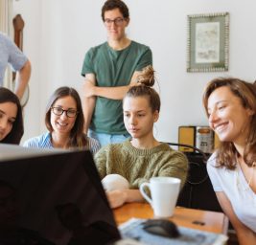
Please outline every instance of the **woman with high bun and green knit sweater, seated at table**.
M184 185L188 161L181 152L153 137L153 123L159 118L160 98L151 88L154 71L146 67L138 84L130 87L123 100L124 122L131 139L122 144L106 145L95 156L102 179L119 174L128 180L127 188L106 191L111 208L129 202L142 202L139 186L151 177L169 176Z

